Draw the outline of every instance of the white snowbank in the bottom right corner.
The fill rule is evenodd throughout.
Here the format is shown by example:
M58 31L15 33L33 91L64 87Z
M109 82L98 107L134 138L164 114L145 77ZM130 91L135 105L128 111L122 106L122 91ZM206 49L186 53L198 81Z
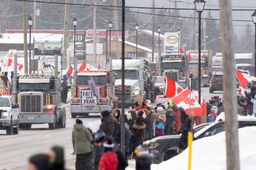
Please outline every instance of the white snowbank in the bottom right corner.
M195 140L192 144L191 170L226 170L225 132ZM239 129L239 152L241 170L252 170L256 160L256 126ZM151 170L187 170L188 149Z

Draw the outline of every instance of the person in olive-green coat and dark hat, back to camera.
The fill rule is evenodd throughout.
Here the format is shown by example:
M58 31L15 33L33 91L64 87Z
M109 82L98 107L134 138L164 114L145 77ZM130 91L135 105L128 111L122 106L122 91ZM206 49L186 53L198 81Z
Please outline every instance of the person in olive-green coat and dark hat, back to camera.
M83 126L83 122L80 119L76 120L74 128L72 132L72 144L77 155L75 163L76 170L90 170L93 166L92 161L89 161L92 159L92 134Z

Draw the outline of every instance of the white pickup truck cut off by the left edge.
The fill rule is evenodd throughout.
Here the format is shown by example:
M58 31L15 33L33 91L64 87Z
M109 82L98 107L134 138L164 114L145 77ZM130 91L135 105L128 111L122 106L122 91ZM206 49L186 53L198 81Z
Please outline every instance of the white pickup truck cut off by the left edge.
M0 130L7 135L19 133L19 105L11 96L0 95Z

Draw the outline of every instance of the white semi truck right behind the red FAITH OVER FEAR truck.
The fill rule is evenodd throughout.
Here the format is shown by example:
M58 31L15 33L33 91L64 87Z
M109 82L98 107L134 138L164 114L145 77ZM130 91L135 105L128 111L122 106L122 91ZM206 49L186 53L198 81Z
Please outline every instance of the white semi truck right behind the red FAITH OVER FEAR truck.
M144 100L150 99L155 101L154 84L156 76L153 76L152 71L145 69L144 61L139 59L125 59L125 104L131 105L138 101L137 96L143 94ZM116 75L115 95L118 97L119 104L121 103L122 91L122 60L112 60L112 71Z

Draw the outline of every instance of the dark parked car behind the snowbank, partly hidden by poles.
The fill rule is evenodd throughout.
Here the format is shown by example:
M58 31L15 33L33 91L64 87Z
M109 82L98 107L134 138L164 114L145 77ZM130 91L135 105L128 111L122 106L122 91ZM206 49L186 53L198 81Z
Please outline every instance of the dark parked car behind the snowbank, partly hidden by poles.
M239 128L246 126L256 126L256 120L254 119L239 120L238 123ZM204 124L202 126L203 127L194 127L194 140L198 140L207 136L213 136L217 133L225 131L224 121ZM198 130L197 128L200 129ZM158 164L177 155L176 149L179 145L180 137L181 135L169 135L153 138L149 147L150 152L154 155L152 163Z

